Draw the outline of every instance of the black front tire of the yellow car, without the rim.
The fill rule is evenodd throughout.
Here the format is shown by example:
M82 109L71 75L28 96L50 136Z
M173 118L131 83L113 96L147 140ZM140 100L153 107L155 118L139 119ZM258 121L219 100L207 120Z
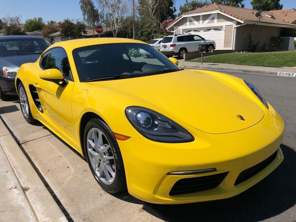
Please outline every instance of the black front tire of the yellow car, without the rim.
M87 151L87 135L91 128L98 128L101 130L104 135L106 136L108 142L110 143L113 156L115 157L115 168L116 168L116 176L112 184L106 185L104 184L94 173L94 169L91 166L90 160L89 160L89 154ZM89 122L85 126L84 135L83 135L83 143L84 143L84 154L87 160L87 163L89 164L89 168L91 170L91 173L93 174L95 180L98 182L98 184L108 193L119 193L127 189L126 187L126 174L124 171L124 165L123 160L121 156L121 152L118 146L118 143L115 139L114 134L112 133L109 126L102 120L93 118L89 120ZM116 155L114 155L114 153Z

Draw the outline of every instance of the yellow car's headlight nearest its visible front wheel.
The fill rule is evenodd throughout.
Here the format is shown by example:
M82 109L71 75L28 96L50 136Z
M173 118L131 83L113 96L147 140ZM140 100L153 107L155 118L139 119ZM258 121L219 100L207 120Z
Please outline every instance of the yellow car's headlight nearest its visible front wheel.
M126 117L133 127L147 139L165 143L194 140L194 137L183 127L153 110L136 106L128 107Z

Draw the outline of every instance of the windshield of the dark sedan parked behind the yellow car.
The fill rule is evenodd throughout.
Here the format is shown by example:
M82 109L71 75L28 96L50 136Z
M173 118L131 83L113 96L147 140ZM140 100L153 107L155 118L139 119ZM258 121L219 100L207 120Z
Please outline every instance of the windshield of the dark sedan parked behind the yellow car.
M0 40L0 56L27 55L42 53L50 44L44 39L2 39Z

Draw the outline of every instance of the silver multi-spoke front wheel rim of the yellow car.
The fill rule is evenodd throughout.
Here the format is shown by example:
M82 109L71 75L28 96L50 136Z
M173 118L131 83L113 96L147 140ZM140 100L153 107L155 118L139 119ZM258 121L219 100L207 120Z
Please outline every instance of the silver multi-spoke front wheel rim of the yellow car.
M106 185L113 183L116 176L115 159L110 142L98 128L91 128L87 134L87 152L95 175Z

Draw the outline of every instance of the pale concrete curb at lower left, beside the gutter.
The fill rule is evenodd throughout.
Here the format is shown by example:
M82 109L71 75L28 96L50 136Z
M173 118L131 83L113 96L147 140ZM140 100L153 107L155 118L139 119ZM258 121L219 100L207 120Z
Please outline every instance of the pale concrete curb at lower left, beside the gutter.
M0 144L38 221L68 221L40 177L0 120Z

